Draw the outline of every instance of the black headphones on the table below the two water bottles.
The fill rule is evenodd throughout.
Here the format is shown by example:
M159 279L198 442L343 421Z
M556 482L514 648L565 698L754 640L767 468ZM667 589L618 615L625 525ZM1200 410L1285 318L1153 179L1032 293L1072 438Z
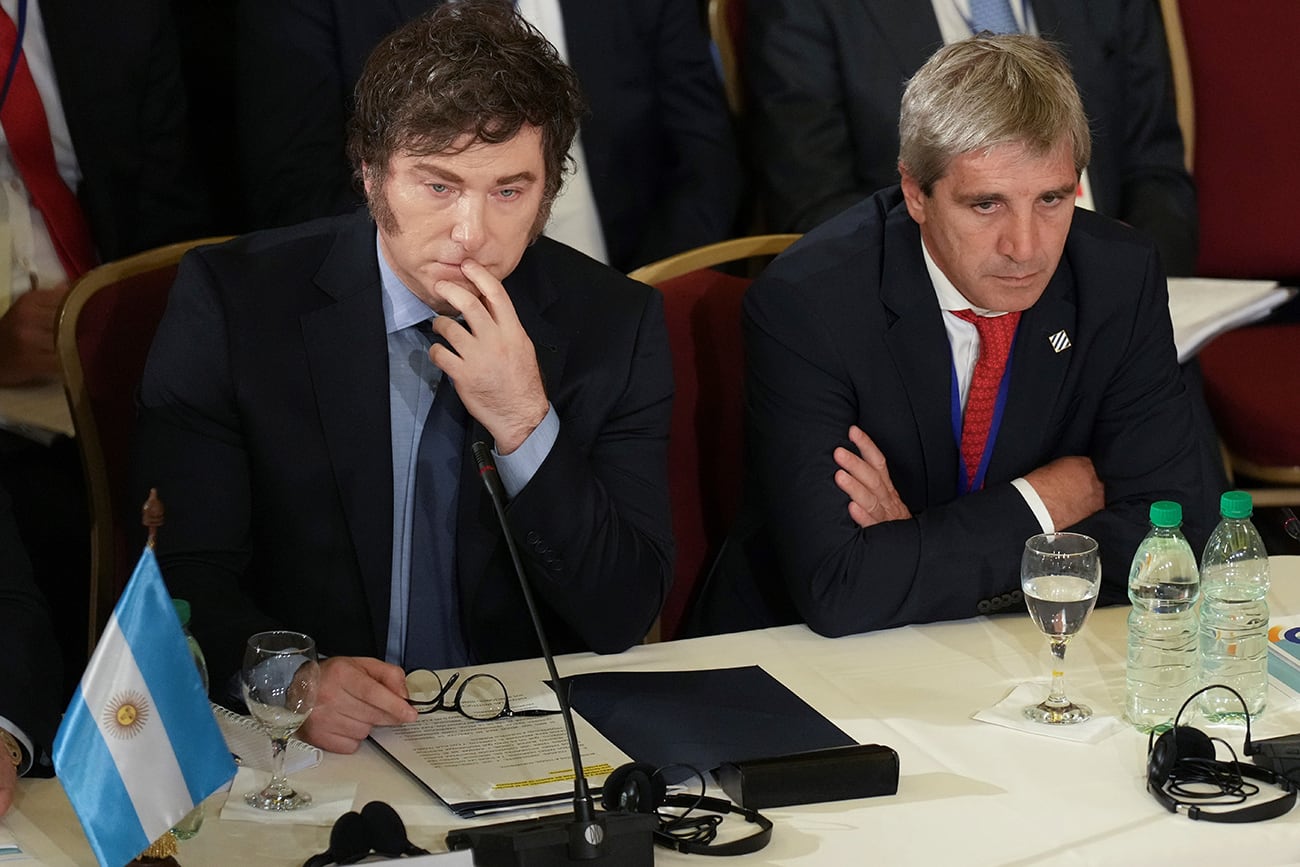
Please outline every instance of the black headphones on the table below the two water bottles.
M1183 718L1183 711L1192 703L1192 699L1212 689L1226 689L1236 695L1236 701L1242 703L1242 710L1245 711L1244 751L1247 755L1254 751L1251 744L1251 711L1245 706L1245 699L1242 698L1242 694L1231 686L1223 686L1222 684L1205 686L1192 693L1183 702L1183 706L1178 708L1178 716L1174 718L1174 728L1158 738L1152 732L1152 736L1148 738L1147 790L1152 793L1160 806L1170 812L1178 812L1178 807L1187 807L1187 818L1200 819L1201 822L1264 822L1265 819L1275 819L1283 815L1296 802L1296 789L1291 784L1291 780L1266 768L1243 764L1236 759L1236 754L1232 753L1231 746L1228 746L1228 751L1232 753L1232 760L1219 762L1214 758L1214 741L1219 741L1225 746L1227 744L1221 738L1212 738L1200 729L1178 724ZM1275 785L1286 794L1280 798L1265 801L1264 803L1242 807L1240 810L1226 810L1222 812L1202 810L1202 806L1245 802L1247 798L1260 790L1260 786L1247 780L1258 780L1260 783Z

